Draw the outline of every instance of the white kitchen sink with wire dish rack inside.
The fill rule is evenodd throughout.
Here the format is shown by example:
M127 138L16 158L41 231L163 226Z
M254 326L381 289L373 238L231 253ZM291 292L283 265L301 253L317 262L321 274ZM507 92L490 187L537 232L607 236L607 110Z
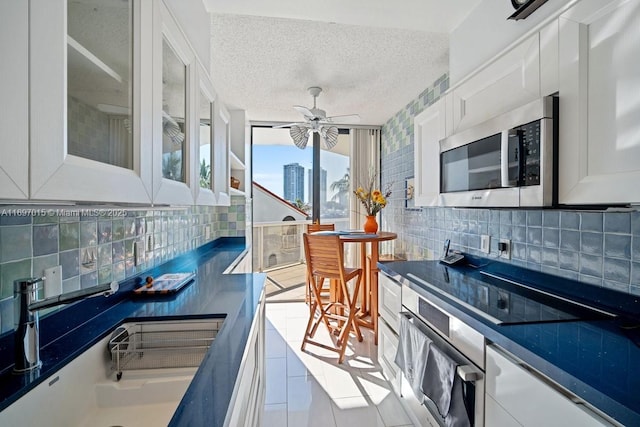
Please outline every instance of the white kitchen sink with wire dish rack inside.
M0 425L167 425L223 321L123 324L0 412Z

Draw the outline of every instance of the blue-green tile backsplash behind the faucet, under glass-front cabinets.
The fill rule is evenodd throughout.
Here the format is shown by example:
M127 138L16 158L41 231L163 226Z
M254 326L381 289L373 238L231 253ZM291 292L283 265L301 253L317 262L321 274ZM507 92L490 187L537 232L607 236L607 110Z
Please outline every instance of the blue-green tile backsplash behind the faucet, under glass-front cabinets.
M180 209L0 206L0 333L13 328L15 279L61 265L64 292L124 280L218 237L244 236L246 206L239 196L231 206Z

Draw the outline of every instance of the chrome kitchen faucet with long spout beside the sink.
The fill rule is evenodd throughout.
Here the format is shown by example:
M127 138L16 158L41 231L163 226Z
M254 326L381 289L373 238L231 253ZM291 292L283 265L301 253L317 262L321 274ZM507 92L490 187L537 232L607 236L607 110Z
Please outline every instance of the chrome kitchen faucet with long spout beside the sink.
M114 281L38 300L38 284L43 281L43 277L30 277L13 282L14 373L25 373L42 366L40 361L39 310L97 295L108 297L117 292L119 287L118 282Z

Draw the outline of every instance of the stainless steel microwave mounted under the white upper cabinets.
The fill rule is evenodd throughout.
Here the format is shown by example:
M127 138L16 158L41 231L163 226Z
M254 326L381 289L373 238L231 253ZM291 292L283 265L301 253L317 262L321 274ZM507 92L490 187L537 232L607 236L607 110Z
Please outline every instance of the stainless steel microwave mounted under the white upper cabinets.
M552 206L557 97L544 97L440 141L440 204Z

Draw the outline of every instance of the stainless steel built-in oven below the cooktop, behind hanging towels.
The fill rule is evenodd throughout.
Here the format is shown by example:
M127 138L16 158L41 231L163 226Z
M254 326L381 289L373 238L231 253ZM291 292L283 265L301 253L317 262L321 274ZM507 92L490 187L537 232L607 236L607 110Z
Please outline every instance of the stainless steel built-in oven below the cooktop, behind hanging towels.
M469 424L453 425L484 426L484 336L431 304L407 285L402 286L402 309L401 315L424 334L430 341L430 348L437 347L455 362L455 375L459 378ZM400 340L402 339L401 336ZM404 377L403 382L406 381ZM403 394L406 390L408 388L403 387ZM441 426L451 425L451 421L440 414L438 405L434 402L439 397L435 396L433 400L424 397L424 409L432 418L431 421Z

